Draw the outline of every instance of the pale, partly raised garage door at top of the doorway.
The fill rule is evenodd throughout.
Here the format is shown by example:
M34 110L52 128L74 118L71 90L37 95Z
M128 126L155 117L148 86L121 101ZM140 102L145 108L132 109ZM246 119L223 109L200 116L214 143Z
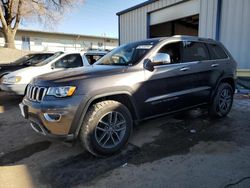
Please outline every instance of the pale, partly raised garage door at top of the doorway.
M191 0L180 3L150 14L150 25L156 25L180 18L199 14L200 0Z

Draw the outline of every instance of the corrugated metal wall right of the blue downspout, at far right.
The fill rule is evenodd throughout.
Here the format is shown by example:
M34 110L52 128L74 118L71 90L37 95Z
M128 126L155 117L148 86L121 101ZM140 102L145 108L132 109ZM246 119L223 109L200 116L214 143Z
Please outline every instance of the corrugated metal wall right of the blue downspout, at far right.
M238 68L250 69L250 1L223 0L220 41L238 62Z

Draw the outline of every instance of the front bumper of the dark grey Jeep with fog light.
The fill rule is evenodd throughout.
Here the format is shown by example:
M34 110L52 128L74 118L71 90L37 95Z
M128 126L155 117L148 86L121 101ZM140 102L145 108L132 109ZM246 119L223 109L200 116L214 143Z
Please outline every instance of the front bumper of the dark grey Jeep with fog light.
M48 137L73 140L75 138L75 131L72 131L73 120L83 97L83 95L68 98L53 97L53 100L42 102L30 101L25 97L20 109L36 132Z

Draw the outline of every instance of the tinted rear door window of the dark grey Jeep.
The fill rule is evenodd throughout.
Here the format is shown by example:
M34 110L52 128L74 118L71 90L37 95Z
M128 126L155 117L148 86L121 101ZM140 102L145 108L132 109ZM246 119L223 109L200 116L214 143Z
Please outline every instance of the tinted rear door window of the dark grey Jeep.
M204 61L210 59L208 49L204 43L185 41L183 44L183 62Z

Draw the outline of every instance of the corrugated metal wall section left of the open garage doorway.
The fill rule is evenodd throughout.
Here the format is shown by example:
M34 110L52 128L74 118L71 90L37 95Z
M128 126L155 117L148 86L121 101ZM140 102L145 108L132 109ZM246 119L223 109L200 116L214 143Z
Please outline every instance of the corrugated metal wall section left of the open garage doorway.
M147 13L183 0L158 0L120 16L120 44L147 38Z

